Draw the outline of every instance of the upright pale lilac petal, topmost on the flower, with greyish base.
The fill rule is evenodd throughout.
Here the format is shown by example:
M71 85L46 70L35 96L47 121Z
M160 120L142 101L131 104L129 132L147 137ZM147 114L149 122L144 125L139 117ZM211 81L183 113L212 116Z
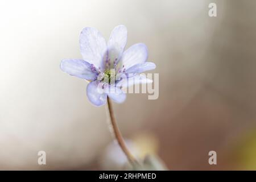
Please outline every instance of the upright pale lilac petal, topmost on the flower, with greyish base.
M108 58L110 63L117 63L122 56L127 42L127 28L119 25L113 29L108 42Z

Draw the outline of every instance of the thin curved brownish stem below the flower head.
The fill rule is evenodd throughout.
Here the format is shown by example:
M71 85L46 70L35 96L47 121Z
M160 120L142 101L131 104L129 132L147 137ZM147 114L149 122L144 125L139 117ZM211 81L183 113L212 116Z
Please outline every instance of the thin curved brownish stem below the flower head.
M129 162L132 165L133 164L138 164L137 160L134 158L133 155L131 155L130 151L128 150L128 148L125 144L125 140L123 140L122 134L118 129L117 121L115 120L115 117L114 117L112 101L110 100L109 97L107 98L107 100L108 100L108 110L109 110L109 115L110 115L111 126L112 126L112 129L113 129L113 132L114 132L115 139L117 139L117 142L118 142L119 146L121 147L122 151L125 153Z

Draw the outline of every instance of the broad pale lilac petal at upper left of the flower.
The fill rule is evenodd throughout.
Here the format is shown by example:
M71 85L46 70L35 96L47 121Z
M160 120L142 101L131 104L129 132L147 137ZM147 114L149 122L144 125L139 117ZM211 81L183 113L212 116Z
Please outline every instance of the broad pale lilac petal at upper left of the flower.
M106 54L106 40L101 33L92 27L86 27L80 34L80 51L84 60L94 64L96 68L104 69L102 60Z

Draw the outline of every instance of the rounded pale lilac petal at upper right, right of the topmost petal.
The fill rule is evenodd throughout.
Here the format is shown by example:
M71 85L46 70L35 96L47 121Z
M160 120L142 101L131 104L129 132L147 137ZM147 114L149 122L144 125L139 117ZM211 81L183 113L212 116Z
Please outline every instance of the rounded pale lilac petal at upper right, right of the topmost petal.
M125 52L123 52L121 58L121 67L125 67L125 69L129 69L135 64L144 63L147 60L147 46L143 43L134 44Z

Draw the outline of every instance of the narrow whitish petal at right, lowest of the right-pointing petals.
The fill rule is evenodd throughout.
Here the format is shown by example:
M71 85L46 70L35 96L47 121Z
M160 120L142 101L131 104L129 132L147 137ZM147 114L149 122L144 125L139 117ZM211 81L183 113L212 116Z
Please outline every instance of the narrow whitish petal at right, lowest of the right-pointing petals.
M122 78L121 81L117 82L116 86L127 88L135 84L149 84L152 80L143 75L135 75L133 77Z

